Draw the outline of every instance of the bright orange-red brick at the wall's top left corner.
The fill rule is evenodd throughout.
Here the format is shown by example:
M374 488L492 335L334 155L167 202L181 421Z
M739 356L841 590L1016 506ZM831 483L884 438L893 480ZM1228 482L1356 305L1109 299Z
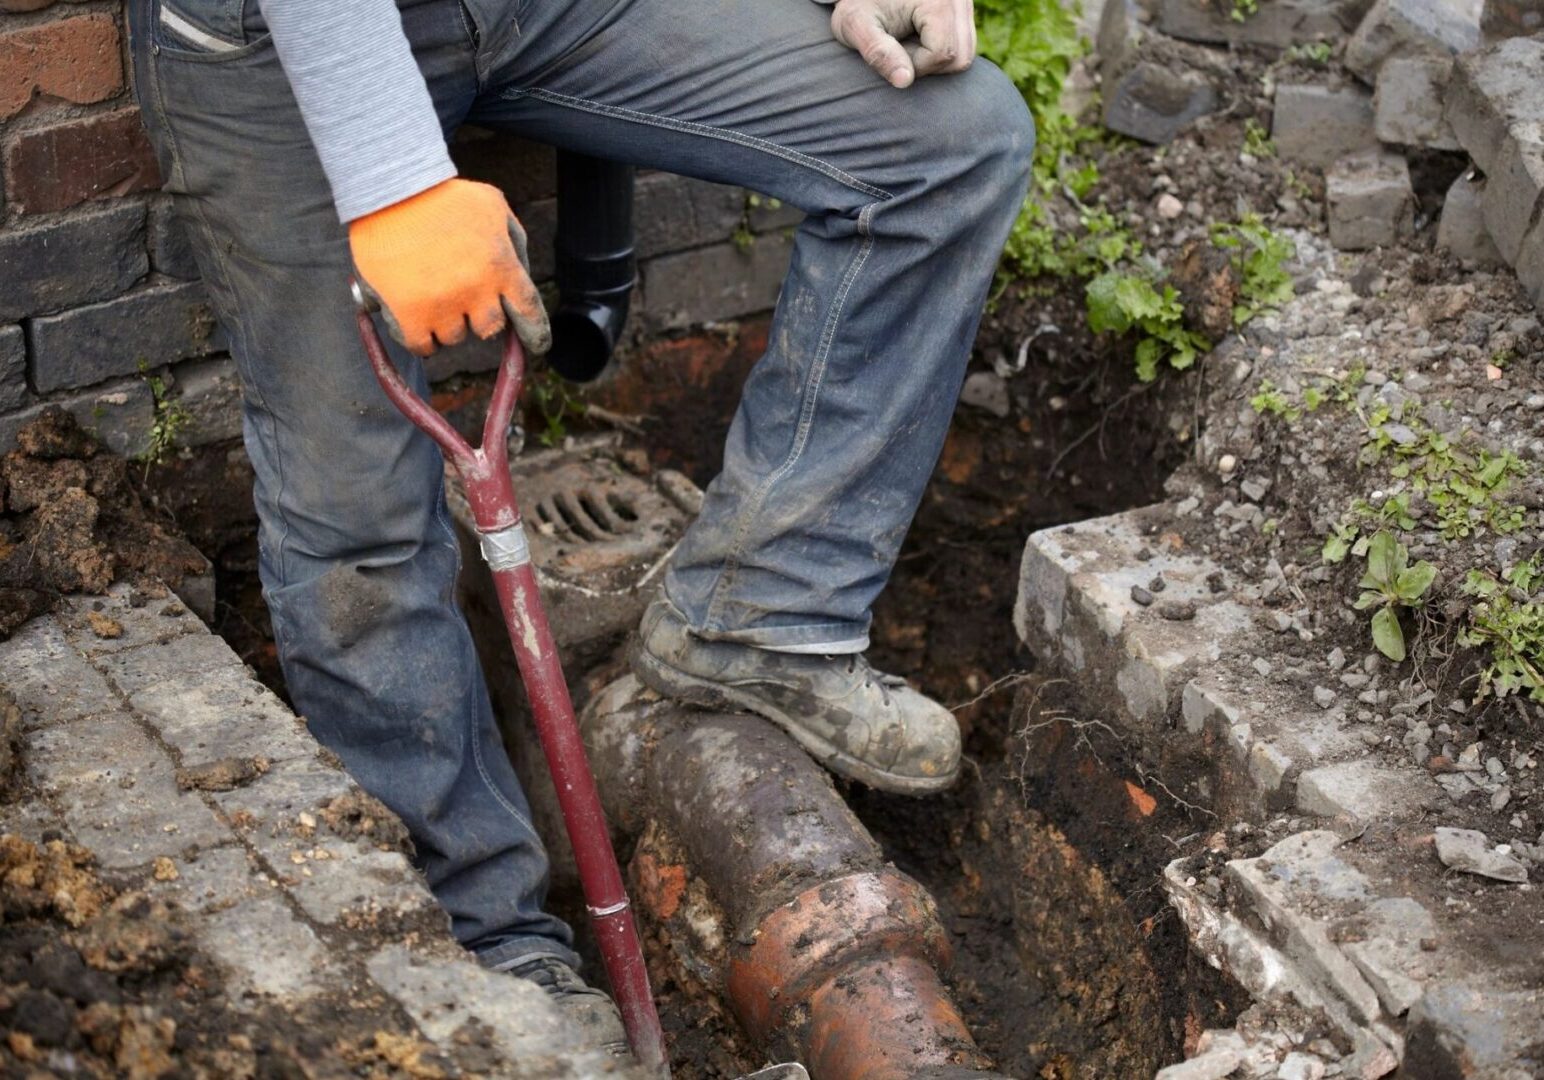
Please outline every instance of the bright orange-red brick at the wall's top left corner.
M0 34L0 121L26 108L34 93L90 105L122 88L113 15L77 15Z

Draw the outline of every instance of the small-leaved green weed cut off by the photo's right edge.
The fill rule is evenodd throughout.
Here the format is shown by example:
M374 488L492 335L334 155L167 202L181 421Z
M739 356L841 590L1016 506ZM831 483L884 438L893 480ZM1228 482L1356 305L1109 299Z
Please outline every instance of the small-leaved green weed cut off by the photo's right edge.
M1505 697L1527 691L1544 703L1544 584L1541 555L1515 565L1504 578L1470 570L1464 592L1476 598L1459 644L1490 649L1479 674L1479 695Z

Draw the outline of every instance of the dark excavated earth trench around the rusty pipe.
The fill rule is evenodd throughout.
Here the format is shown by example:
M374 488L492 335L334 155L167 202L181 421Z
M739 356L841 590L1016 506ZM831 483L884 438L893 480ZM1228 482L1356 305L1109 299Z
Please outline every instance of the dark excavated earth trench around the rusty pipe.
M1004 338L1014 334L1022 326L1001 328ZM655 467L706 484L730 414L726 402L755 352L744 345L707 383L656 379L599 400L608 414L667 416L669 423L645 422L631 442ZM1062 708L1065 688L1036 674L1010 615L1030 532L1158 496L1184 447L1156 420L1170 413L1156 396L1194 389L1136 388L1119 374L1129 371L1119 357L1068 349L1053 360L1016 377L1010 417L962 408L875 613L874 660L960 706L965 776L928 800L852 785L838 791L880 858L936 899L942 944L953 953L945 995L996 1072L1143 1077L1244 1004L1192 956L1160 885L1178 844L1206 833L1207 820L1149 790L1122 748L1101 737L1096 717ZM440 403L477 414L477 397L469 383ZM625 453L641 460L636 450ZM216 629L283 691L256 586L239 451L205 448L162 467L151 482L216 562ZM652 513L608 508L624 525L630 516L647 524ZM604 518L604 510L591 507L588 516ZM560 516L562 501L547 513ZM610 649L590 649L570 667L581 700L621 672ZM661 844L645 830L642 841L627 837L622 856L641 848L658 865ZM553 902L582 922L560 867ZM764 1048L746 1034L743 1010L712 972L682 959L672 939L679 927L650 919L645 932L675 1075L733 1077L763 1065Z

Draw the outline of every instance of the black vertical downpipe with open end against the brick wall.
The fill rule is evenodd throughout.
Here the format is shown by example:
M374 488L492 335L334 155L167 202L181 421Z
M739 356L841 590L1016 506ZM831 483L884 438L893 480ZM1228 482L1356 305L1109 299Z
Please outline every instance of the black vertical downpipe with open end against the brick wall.
M557 309L548 363L576 383L596 379L627 321L633 261L633 167L557 151Z

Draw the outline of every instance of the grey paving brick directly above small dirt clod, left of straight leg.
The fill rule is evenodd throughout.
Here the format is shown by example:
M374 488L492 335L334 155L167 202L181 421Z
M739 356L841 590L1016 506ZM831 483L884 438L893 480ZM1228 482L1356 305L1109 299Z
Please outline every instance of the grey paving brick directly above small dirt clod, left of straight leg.
M182 756L184 765L222 757L286 762L317 752L304 722L239 663L150 686L128 703Z

